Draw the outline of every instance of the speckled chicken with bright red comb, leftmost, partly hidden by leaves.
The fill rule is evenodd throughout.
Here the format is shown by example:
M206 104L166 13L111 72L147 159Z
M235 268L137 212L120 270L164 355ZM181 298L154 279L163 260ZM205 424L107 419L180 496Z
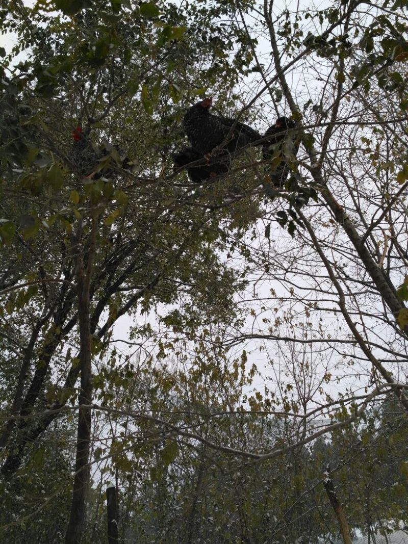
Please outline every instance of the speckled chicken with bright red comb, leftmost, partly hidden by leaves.
M78 174L92 180L118 176L118 169L131 170L132 162L118 145L109 143L97 147L82 132L81 126L72 133L72 157Z

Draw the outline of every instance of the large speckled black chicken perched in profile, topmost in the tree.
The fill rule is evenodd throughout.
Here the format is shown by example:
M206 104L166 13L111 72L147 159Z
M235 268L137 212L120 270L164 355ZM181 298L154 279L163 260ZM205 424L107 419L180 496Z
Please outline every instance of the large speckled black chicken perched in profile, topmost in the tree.
M209 109L212 103L212 97L205 98L188 108L184 115L184 130L195 151L205 155L225 141L222 146L224 154L226 151L235 154L246 145L261 139L261 135L250 126L222 115L211 114Z

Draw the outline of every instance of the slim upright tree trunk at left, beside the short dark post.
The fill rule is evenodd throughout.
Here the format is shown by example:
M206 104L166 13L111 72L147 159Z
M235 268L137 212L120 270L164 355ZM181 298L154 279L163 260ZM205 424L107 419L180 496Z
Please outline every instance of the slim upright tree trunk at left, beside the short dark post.
M77 452L75 462L75 480L73 483L71 514L65 535L65 544L81 544L85 528L86 502L89 490L89 448L91 440L91 404L92 404L92 360L90 327L90 277L95 252L95 221L92 226L86 272L84 258L77 258L78 322L81 367L81 392L79 393L79 413L77 431ZM79 238L79 237L78 237ZM78 244L79 245L79 244Z

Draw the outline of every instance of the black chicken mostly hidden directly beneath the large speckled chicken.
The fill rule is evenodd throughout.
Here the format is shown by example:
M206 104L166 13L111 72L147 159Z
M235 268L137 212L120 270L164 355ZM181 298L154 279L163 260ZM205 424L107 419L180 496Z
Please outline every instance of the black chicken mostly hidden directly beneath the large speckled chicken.
M193 147L184 147L181 151L173 153L172 158L175 169L182 168L182 166L186 166L199 159L202 159L202 162L205 161L202 154L193 149ZM229 157L209 158L205 164L187 166L188 177L194 183L201 183L212 177L227 174L228 170L230 170Z

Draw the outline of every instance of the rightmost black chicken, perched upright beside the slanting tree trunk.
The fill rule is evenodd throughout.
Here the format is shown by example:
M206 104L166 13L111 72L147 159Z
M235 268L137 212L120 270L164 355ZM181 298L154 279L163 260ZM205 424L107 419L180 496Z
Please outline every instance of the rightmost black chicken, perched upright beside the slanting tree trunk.
M293 128L296 128L294 121L287 117L280 117L275 125L265 132L265 138L269 139L262 144L262 157L263 160L269 160L269 164L265 166L265 173L270 176L275 187L285 186L290 172L287 160L289 162L294 160L298 153L299 145L295 145L293 141L294 131L290 131ZM274 163L275 168L273 168Z

